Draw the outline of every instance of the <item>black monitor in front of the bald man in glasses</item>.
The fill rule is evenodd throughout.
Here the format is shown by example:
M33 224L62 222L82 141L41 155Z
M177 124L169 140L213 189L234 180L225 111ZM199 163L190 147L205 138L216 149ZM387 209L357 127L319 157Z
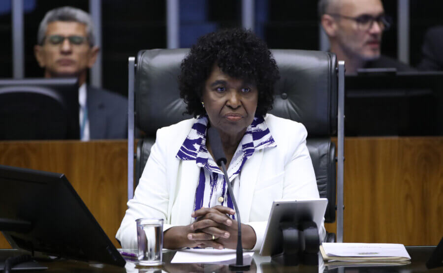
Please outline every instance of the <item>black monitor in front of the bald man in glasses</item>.
M443 72L361 70L345 91L346 136L443 135Z

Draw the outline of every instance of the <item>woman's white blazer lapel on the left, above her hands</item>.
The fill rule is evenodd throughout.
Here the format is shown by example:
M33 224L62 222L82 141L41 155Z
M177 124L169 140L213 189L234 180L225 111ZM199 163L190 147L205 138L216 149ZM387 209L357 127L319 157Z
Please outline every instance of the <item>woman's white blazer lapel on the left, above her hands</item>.
M195 164L195 160L182 160L179 163L180 173L177 198L175 199L175 204L173 204L174 209L171 215L172 224L192 222L190 214L194 208L195 189L197 188L200 168Z

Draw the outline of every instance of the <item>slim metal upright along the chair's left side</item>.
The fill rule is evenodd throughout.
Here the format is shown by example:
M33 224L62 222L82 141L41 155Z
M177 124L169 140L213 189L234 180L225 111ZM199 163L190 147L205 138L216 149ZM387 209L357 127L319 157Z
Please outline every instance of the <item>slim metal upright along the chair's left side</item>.
M134 73L135 57L127 67L127 200L134 197Z

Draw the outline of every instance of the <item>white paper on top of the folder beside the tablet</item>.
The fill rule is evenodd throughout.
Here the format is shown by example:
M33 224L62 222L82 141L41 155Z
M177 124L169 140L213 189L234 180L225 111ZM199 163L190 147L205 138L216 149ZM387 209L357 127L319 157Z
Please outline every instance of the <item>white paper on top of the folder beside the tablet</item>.
M336 257L404 257L411 259L401 243L322 243L328 256Z

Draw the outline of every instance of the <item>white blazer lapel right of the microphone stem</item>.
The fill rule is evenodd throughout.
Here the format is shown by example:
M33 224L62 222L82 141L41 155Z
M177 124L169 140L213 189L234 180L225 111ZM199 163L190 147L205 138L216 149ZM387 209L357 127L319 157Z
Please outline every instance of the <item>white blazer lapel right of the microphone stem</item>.
M263 159L264 149L255 151L254 154L246 160L241 171L238 207L243 222L249 221L255 183L257 182L261 161Z

